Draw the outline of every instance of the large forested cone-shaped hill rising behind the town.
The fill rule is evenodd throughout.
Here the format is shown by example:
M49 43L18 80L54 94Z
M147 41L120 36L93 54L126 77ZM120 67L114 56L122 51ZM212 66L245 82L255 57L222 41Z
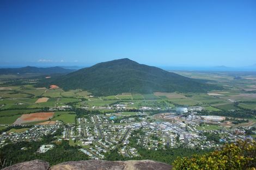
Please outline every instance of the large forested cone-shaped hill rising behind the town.
M101 62L92 67L44 80L39 86L58 85L64 90L83 89L96 96L117 95L122 92L206 92L221 89L202 80L183 77L161 68L138 64L130 59Z

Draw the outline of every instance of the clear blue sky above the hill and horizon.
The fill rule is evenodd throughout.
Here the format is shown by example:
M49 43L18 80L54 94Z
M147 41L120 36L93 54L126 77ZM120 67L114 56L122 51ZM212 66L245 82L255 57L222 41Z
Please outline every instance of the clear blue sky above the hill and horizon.
M0 65L256 64L256 1L0 1Z

